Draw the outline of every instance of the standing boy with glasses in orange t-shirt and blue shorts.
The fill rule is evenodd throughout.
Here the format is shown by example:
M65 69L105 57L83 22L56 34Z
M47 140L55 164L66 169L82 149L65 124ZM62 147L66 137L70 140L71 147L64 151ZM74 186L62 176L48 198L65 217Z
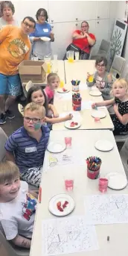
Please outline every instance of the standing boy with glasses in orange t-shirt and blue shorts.
M35 25L34 19L27 16L21 28L7 25L0 30L0 125L7 118L15 117L9 108L22 92L18 67L22 60L29 59L31 42L28 34L34 31Z

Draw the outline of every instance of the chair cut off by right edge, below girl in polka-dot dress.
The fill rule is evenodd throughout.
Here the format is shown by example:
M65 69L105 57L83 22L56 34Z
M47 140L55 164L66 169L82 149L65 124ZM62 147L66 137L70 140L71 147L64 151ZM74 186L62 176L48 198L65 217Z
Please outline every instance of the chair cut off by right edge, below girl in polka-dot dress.
M128 179L128 138L124 143L124 146L122 147L121 151L120 151L120 156L121 156L121 160L124 166L124 171L127 175L127 179Z

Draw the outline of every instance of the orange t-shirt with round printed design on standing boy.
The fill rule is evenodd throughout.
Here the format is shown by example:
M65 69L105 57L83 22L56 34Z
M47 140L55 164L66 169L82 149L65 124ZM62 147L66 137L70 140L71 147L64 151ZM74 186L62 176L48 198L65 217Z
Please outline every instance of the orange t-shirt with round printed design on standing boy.
M28 60L31 42L21 28L7 25L0 30L0 73L16 75L22 60Z

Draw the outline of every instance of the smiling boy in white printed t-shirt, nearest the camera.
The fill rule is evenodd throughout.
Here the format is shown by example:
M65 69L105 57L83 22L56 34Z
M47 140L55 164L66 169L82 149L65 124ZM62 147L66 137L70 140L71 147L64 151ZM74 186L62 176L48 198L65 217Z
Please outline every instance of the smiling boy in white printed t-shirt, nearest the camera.
M30 248L36 211L36 198L28 184L19 180L15 163L0 163L0 222L7 240ZM37 195L36 195L37 197Z

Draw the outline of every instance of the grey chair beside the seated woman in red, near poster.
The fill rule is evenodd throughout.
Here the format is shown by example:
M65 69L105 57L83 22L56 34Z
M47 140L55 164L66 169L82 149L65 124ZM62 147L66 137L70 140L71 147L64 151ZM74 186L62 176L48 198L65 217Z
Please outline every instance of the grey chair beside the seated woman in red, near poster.
M103 39L102 42L100 43L100 48L98 49L97 54L91 55L90 59L96 60L97 57L107 58L107 54L109 52L109 46L110 46L110 42Z

